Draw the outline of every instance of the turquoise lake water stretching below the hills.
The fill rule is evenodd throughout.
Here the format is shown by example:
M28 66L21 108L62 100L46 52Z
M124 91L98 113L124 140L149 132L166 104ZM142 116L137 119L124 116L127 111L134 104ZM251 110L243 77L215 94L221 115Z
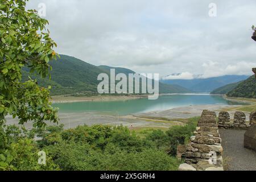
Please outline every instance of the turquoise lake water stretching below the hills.
M189 105L243 105L241 102L225 100L221 96L209 94L172 94L160 96L158 100L142 98L128 101L74 102L54 104L60 113L81 113L85 111L100 111L118 113L119 115L160 111Z

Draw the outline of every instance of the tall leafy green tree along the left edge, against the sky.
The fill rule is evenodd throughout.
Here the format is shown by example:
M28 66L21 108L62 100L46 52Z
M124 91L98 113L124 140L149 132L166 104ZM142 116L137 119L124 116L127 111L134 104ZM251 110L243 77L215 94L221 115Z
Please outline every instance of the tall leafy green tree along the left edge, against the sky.
M36 10L25 10L28 0L0 0L0 121L7 114L19 123L34 121L46 126L45 120L57 122L57 110L49 102L49 89L36 81L21 82L22 68L30 68L42 77L49 75L49 60L56 59L56 43L46 31L48 21Z

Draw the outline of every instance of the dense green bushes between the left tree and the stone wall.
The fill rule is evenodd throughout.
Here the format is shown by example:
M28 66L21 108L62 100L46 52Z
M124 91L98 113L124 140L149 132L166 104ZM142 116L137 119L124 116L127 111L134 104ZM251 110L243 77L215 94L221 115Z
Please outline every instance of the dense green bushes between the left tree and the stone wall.
M64 131L54 126L42 137L38 146L62 170L176 170L180 163L160 146L167 135L158 130L140 138L123 126L85 125Z

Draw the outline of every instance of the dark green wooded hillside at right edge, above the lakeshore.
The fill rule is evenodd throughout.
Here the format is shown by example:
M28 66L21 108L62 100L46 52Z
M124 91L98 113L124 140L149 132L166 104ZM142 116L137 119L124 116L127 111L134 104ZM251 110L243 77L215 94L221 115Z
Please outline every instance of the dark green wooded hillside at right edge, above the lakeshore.
M241 82L236 88L230 91L227 96L229 97L245 97L256 98L256 79L251 76L247 80Z

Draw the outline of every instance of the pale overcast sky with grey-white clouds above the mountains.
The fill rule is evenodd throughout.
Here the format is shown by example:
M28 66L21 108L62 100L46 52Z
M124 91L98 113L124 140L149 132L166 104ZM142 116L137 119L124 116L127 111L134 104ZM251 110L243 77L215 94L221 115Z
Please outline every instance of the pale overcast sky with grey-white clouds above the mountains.
M94 65L182 73L175 78L252 75L256 67L255 0L32 0L27 8L40 3L56 51Z

